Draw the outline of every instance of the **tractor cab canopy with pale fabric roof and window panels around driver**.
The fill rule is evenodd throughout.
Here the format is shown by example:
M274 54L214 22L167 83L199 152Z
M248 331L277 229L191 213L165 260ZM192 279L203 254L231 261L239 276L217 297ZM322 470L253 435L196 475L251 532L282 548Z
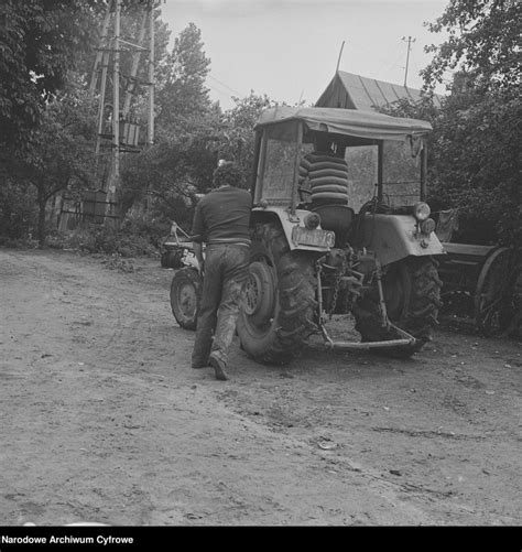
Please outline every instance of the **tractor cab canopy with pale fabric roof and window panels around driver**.
M348 163L352 208L371 199L376 186L379 199L385 195L393 206L424 201L432 130L427 121L356 109L265 109L255 125L254 204L296 208L300 163L319 136L330 138L336 154Z

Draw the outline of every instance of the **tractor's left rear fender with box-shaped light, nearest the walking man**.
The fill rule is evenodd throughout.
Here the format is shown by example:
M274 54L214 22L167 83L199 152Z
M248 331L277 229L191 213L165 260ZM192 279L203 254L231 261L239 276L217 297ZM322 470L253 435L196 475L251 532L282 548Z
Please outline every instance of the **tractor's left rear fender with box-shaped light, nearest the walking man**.
M335 243L335 234L323 230L320 226L314 230L305 227L304 218L311 213L306 209L296 209L291 213L283 207L254 207L252 209L250 225L279 221L284 231L291 250L328 252Z

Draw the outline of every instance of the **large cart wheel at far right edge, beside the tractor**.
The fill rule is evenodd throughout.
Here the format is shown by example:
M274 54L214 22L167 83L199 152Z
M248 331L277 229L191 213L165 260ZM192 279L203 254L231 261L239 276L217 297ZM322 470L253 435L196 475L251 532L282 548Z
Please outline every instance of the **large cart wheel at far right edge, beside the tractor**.
M509 327L514 314L514 279L513 250L496 249L483 263L475 291L475 322L482 335L491 337Z

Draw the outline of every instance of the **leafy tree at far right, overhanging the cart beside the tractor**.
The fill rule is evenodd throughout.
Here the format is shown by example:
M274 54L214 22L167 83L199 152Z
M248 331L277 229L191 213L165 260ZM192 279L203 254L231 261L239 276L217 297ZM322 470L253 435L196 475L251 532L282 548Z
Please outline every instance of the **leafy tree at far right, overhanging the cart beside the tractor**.
M521 15L516 0L452 0L429 25L449 37L428 48L435 55L423 72L426 89L457 69L450 95L432 113L431 196L460 209L470 230L466 240L522 238Z

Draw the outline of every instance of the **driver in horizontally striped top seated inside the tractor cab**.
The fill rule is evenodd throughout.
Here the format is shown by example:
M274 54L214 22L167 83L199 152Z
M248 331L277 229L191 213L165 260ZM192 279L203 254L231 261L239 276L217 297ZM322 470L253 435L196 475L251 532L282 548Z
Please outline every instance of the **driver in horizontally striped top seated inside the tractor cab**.
M314 137L315 151L307 153L300 164L298 190L303 203L314 206L348 203L348 164L335 153L324 132Z

